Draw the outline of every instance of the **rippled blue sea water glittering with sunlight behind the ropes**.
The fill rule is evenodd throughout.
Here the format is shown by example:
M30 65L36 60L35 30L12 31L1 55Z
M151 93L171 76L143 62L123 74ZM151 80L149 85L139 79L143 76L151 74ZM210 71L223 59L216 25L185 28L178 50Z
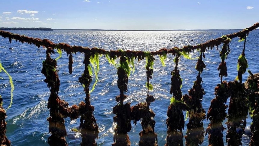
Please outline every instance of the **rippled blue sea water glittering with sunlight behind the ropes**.
M181 48L184 45L195 45L206 42L210 39L221 37L222 35L234 33L235 31L12 31L20 35L37 37L40 39L50 39L55 43L65 42L69 45L79 45L88 47L99 47L106 50L141 50L157 51L160 48L172 48L177 46ZM191 41L191 39L193 41ZM172 41L171 41L172 40ZM221 45L222 46L222 45ZM219 46L219 48L221 48ZM12 49L9 49L9 48ZM237 58L242 53L243 42L233 39L230 43L230 54L228 56L227 71L228 76L224 78L227 81L233 81L236 78ZM248 70L252 73L259 72L258 66L258 49L259 49L259 31L252 31L247 37L246 58L248 60ZM45 60L45 49L37 48L29 44L16 42L9 43L8 39L0 37L0 60L3 67L13 77L14 82L14 99L10 109L7 110L7 132L6 135L13 146L47 146L49 109L47 101L50 91L44 82L45 76L41 74L42 61ZM221 62L219 50L213 48L205 52L206 69L201 74L203 78L202 86L206 91L203 96L203 108L206 113L210 106L210 101L214 98L214 88L220 83L219 71L217 70ZM191 53L192 57L197 57L199 52ZM58 53L52 55L56 58ZM160 59L155 56L153 78L150 80L154 90L150 95L155 97L155 102L151 103L150 108L154 110L156 116L155 132L158 136L158 144L166 143L166 111L170 104L170 79L171 70L175 64L174 56L167 55L165 61L166 67L162 67ZM84 101L83 86L78 82L78 78L84 71L84 55L81 53L73 54L73 73L69 74L68 56L65 52L57 61L60 79L59 97L66 100L69 105L78 104ZM188 60L181 57L178 64L181 78L183 79L182 92L188 93L196 80L198 72L195 70L196 60ZM147 89L145 87L146 73L145 60L135 61L135 72L130 75L128 82L129 97L125 102L131 102L131 106L145 101ZM248 73L243 75L243 81L247 78ZM11 86L8 76L0 73L0 94L4 100L5 109L10 103ZM94 82L93 76L93 82ZM117 70L109 64L105 56L100 57L100 71L98 73L99 81L95 90L91 93L91 104L95 107L94 116L99 126L99 138L96 140L98 145L111 145L113 143L113 134L115 124L113 123L112 108L116 105L115 97L119 95L117 88ZM93 85L93 83L92 83ZM70 146L80 145L81 135L73 132L73 128L79 127L79 119L65 119L67 136L66 140ZM248 116L248 125L251 119ZM185 125L188 121L185 122ZM209 121L204 120L204 129L206 130ZM225 125L226 127L226 125ZM186 126L184 135L186 134ZM138 145L139 132L142 130L140 122L136 126L132 123L132 130L129 132L131 145ZM226 130L224 131L226 135ZM224 137L225 138L225 137ZM202 145L208 145L208 135L205 136ZM243 145L249 144L249 137L243 135Z

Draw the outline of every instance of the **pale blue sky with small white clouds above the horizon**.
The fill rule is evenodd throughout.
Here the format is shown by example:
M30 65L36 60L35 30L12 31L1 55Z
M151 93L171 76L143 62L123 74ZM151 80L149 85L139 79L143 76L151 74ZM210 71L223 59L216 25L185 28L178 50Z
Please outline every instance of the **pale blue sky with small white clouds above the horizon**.
M243 29L259 0L1 0L0 27Z

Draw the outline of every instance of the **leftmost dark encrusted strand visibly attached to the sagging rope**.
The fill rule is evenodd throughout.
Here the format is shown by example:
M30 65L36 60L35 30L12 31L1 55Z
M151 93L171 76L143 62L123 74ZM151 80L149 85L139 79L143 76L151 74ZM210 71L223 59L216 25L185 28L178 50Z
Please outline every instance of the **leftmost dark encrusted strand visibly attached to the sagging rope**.
M66 118L69 113L67 110L68 103L60 100L58 97L59 92L59 77L56 71L57 62L51 59L50 54L54 53L53 48L49 47L46 51L46 60L42 63L41 73L44 74L47 87L50 89L50 97L47 107L50 108L49 132L51 133L48 138L50 146L67 146L66 142L66 127L64 117Z

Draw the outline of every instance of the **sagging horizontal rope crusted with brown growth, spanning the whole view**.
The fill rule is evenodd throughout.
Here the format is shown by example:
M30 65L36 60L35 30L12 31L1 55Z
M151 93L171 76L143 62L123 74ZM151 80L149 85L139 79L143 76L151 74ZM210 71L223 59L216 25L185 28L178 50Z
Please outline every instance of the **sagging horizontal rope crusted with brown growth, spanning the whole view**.
M252 30L255 30L256 28L259 27L259 23L255 23L253 26L247 28L247 29L244 29L240 32L237 32L237 33L232 33L232 34L228 34L226 35L228 38L230 39L233 39L235 37L243 37L244 35L247 35L250 31ZM60 49L63 49L64 51L66 51L68 54L74 52L81 52L81 53L89 53L91 55L93 55L95 52L98 52L99 54L109 54L111 57L113 56L122 56L124 52L122 51L118 51L118 50L110 50L110 51L107 51L107 50L104 50L104 49L101 49L101 48L88 48L88 47L82 47L82 46L71 46L71 45L68 45L66 43L58 43L58 44L55 44L53 42L51 42L50 40L48 39L38 39L38 38L32 38L32 37L28 37L28 36L21 36L19 34L14 34L14 33L10 33L10 32L6 32L6 31L0 31L0 36L3 36L4 38L9 38L9 41L11 43L12 39L15 39L16 41L18 40L19 42L27 42L29 44L34 44L36 45L38 48L40 46L44 46L48 49L54 49L54 48L60 48ZM166 53L166 54L170 54L172 53L173 55L175 55L177 52L182 52L183 50L186 51L186 52L190 52L190 51L193 51L194 49L203 49L203 51L206 50L206 48L213 48L214 46L217 46L218 48L218 45L220 45L222 42L224 41L224 39L222 39L221 37L220 38L217 38L217 39L212 39L212 40L209 40L207 42L204 42L202 44L199 44L199 45L188 45L188 46L184 46L183 48L177 48L177 47L174 47L174 48L161 48L159 49L158 51L151 51L150 53L153 54L153 55L162 55L163 53ZM176 51L177 50L177 51ZM145 57L145 52L144 51L131 51L131 50L127 50L125 51L126 52L126 55L128 57L132 57L132 56L135 56L135 57L138 57L138 56L141 56L142 58Z

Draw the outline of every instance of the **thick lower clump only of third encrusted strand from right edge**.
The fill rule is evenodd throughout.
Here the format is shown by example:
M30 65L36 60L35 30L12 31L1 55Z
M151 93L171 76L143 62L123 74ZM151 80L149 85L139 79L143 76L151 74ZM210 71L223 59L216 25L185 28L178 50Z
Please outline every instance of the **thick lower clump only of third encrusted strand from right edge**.
M207 114L207 120L210 120L209 126L206 129L206 135L209 133L209 145L213 146L224 146L223 141L223 130L225 129L222 125L222 122L227 117L227 98L230 97L230 91L227 86L227 82L223 81L221 84L218 84L215 87L216 95L212 99L209 111Z

